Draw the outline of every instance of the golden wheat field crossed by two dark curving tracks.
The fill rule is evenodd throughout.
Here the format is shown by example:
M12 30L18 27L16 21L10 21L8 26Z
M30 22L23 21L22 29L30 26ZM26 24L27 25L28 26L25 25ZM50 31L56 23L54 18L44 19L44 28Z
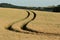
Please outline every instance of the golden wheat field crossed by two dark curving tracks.
M60 13L0 8L0 40L60 40Z

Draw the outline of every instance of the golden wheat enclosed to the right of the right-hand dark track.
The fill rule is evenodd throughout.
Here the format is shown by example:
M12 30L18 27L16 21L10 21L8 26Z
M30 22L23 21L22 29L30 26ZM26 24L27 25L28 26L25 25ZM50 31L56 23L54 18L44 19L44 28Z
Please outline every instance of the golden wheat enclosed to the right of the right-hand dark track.
M44 33L60 34L60 13L34 11L37 15L34 21L28 24L30 29Z

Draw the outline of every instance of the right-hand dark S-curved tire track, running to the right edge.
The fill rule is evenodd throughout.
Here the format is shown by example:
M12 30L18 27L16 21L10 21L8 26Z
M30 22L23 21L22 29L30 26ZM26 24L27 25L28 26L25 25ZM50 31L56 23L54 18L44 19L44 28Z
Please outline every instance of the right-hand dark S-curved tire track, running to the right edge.
M39 32L39 31L36 31L36 30L28 28L27 27L28 23L30 23L31 21L33 21L36 18L36 13L33 12L33 11L31 11L31 12L34 14L34 17L29 22L27 22L26 24L24 24L21 27L22 30L26 30L26 31L29 31L29 32L32 32L32 33L34 32L34 33L40 33L40 34L50 34L50 35L56 35L56 36L58 35L58 36L60 36L60 34L56 34L56 33L44 33L44 32Z

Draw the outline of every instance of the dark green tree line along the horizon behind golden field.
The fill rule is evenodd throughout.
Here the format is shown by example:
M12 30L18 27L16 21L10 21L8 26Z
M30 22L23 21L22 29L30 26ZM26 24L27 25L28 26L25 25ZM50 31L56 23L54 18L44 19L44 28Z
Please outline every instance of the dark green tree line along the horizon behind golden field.
M26 6L16 6L16 5L8 4L8 3L0 3L0 7L60 12L60 5L58 5L57 7L55 6L53 7L26 7Z

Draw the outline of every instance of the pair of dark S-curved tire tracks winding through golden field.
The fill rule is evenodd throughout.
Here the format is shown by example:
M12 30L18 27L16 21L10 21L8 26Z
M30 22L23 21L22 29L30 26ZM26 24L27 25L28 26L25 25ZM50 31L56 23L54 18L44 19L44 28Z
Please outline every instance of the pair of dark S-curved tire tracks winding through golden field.
M10 30L10 31L19 32L19 33L26 33L26 34L33 34L33 33L37 33L38 34L38 33L40 33L40 34L45 34L45 35L46 34L51 34L51 35L56 35L56 36L58 35L58 36L60 36L60 34L56 34L56 33L44 33L44 32L39 32L39 31L36 31L36 30L28 28L27 27L28 23L30 23L31 21L33 21L36 18L36 13L33 12L33 11L31 11L31 12L34 15L33 18L30 21L28 21L27 23L23 24L23 26L20 28L21 30L25 30L25 32L24 31L20 31L20 30L15 30L15 29L12 28L12 25L14 25L17 22L15 22L14 24L10 25L7 29ZM24 18L22 21L24 21L25 19L27 19L30 16L30 12L27 11L27 13L28 13L27 17ZM18 22L20 22L20 21L18 21ZM26 32L26 31L28 31L28 32Z

